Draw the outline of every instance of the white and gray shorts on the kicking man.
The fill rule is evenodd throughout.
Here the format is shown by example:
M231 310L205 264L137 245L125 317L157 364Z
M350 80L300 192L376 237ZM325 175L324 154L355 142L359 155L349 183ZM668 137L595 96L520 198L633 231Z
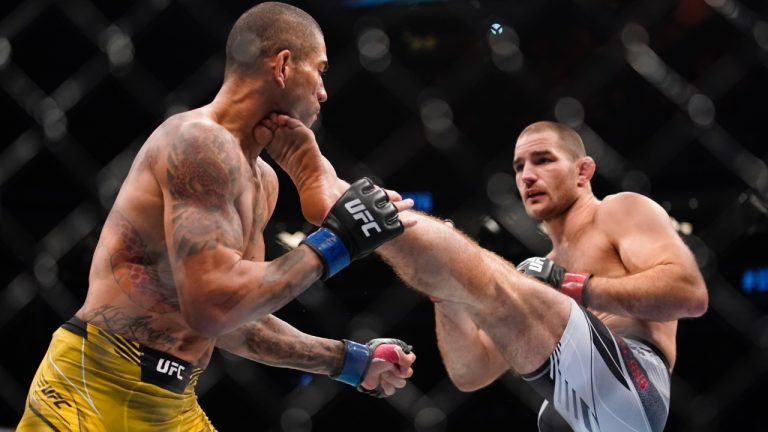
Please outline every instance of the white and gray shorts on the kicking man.
M614 336L572 301L555 351L523 379L545 400L539 430L664 430L669 413L669 367L649 342Z

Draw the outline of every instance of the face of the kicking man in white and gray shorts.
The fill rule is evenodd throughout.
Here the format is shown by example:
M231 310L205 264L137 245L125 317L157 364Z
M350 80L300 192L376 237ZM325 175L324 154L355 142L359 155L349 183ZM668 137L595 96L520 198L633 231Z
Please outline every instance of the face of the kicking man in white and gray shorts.
M523 135L515 146L515 182L529 216L549 220L576 199L577 168L552 131Z

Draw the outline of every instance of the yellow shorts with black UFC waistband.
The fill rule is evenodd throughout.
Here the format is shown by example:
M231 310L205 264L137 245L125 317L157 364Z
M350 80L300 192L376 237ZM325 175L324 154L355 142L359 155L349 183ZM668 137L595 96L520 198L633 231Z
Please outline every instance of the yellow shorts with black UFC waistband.
M17 431L215 431L188 362L72 318L53 333Z

